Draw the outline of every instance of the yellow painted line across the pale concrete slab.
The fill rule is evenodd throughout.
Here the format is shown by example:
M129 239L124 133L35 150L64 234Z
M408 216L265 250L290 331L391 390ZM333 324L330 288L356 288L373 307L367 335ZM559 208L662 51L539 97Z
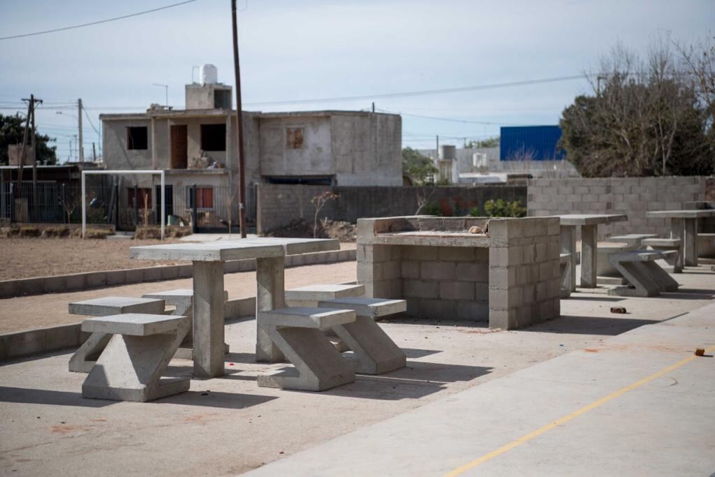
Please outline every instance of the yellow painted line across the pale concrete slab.
M715 346L706 349L705 352L710 353L713 350L715 350ZM699 357L696 355L692 355L689 358L685 358L684 360L678 361L674 365L670 365L667 368L661 369L657 373L653 373L653 374L647 376L646 378L638 380L633 384L627 385L625 388L621 388L609 395L604 396L603 398L601 398L599 400L595 400L595 401L593 401L593 403L585 405L585 406L583 406L583 408L575 410L575 411L573 411L573 413L565 415L565 416L563 416L563 418L557 419L556 421L553 421L553 423L551 423L551 424L547 424L546 426L543 426L542 428L538 428L536 431L526 434L526 436L521 436L516 441L512 441L512 442L506 444L506 446L501 446L500 448L495 449L494 451L491 451L488 454L484 454L483 456L481 456L479 458L475 458L471 462L465 463L461 467L455 468L450 473L445 474L445 477L455 477L462 473L465 473L466 471L468 471L472 468L480 466L481 464L495 458L496 456L501 456L501 454L511 451L511 449L513 449L517 446L521 446L521 444L531 441L531 439L533 439L533 438L541 436L541 434L546 433L546 431L551 431L551 429L561 426L562 424L565 424L568 421L571 421L571 419L578 418L579 415L587 413L591 409L598 408L598 406L608 403L609 400L616 399L616 398L618 398L618 396L628 393L628 391L639 388L642 385L649 383L654 379L660 378L664 374L670 373L672 370L680 368L682 365L686 365L687 363L690 363L695 358L699 358Z

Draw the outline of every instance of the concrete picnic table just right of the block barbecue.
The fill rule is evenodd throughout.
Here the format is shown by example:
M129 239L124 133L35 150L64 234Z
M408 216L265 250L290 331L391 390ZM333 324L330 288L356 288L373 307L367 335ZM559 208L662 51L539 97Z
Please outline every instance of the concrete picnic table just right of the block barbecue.
M581 287L596 287L598 225L628 220L624 214L565 214L561 220L561 253L571 255L571 266L564 277L565 287L576 291L576 227L581 227Z

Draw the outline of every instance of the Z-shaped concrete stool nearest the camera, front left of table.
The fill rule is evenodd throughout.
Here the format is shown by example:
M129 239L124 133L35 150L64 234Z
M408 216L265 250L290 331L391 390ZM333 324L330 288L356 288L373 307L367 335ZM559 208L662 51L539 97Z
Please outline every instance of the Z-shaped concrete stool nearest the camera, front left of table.
M88 318L82 331L111 336L82 383L83 398L146 402L189 390L189 378L162 378L189 318L126 313Z

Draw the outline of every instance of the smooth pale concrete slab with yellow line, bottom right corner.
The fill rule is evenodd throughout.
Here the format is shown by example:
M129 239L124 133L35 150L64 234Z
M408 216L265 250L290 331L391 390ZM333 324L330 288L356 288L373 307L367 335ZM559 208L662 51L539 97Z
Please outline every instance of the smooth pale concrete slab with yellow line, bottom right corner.
M247 475L710 476L714 325L711 304Z

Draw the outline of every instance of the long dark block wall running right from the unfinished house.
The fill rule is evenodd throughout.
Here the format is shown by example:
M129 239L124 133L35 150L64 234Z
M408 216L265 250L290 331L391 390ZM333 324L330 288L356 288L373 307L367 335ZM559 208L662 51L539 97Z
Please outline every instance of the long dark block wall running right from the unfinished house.
M526 186L479 185L475 187L328 187L320 185L257 185L257 231L270 232L296 219L312 222L315 205L310 200L332 190L340 195L327 202L320 218L355 223L363 217L396 217L417 212L418 198L428 202L459 204L463 214L473 207L484 210L487 200L518 200L526 206Z

